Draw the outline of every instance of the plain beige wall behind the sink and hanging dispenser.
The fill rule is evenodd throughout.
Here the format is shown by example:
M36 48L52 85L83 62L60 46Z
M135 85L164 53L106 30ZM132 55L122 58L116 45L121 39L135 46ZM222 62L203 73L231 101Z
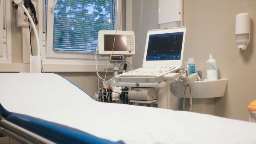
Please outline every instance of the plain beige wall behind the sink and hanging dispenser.
M223 98L218 98L218 116L247 121L247 105L256 99L256 0L184 0L187 27L184 58L195 57L206 78L209 53L217 60L219 78L228 78ZM240 51L235 43L235 17L251 15L251 41Z

